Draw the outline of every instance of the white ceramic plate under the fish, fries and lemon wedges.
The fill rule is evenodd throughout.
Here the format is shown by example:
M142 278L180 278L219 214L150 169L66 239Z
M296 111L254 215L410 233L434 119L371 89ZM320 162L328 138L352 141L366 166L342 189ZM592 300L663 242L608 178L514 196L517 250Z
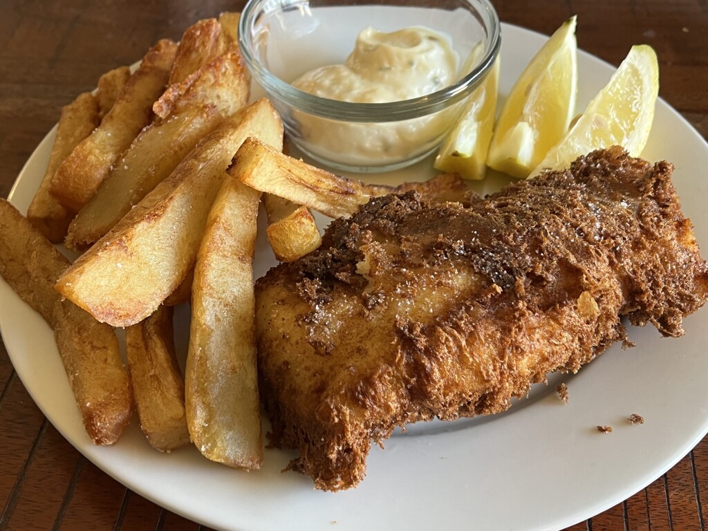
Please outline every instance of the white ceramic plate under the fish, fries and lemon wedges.
M501 90L506 93L544 42L542 35L503 27ZM578 109L613 69L579 56ZM45 170L54 132L18 177L11 200L23 212ZM660 101L644 154L676 166L683 210L708 251L704 207L708 145ZM409 176L430 173L430 161ZM404 176L398 174L393 178ZM491 179L482 188L494 188ZM259 254L257 271L271 263ZM57 429L93 463L161 506L212 527L234 530L467 529L554 530L610 508L661 476L708 430L708 309L685 320L686 335L664 339L630 329L636 347L611 348L575 376L556 375L503 415L412 426L368 460L357 489L314 491L309 478L281 474L292 455L267 450L265 469L245 473L208 462L193 448L161 455L134 420L114 447L91 444L42 319L0 281L0 328L13 365ZM180 316L181 319L185 315ZM183 334L183 333L182 333ZM184 349L185 337L178 337ZM570 402L554 392L563 380ZM631 413L644 416L630 426ZM611 434L595 426L609 424Z

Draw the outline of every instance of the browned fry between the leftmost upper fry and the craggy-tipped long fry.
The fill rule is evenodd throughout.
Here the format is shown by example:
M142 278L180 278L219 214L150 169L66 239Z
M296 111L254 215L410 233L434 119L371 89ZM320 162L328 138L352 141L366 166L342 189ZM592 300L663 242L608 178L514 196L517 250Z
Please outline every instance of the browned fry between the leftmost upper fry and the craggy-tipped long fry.
M164 91L176 44L161 40L130 76L118 99L96 130L72 151L52 178L52 195L78 212L86 204L111 165L152 120L152 104Z

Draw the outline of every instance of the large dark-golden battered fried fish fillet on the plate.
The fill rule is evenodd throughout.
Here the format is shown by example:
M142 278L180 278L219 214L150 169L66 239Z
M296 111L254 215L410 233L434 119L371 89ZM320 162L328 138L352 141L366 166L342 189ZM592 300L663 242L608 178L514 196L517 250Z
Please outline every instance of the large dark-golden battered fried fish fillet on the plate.
M372 441L503 411L626 341L622 316L680 336L708 269L672 169L613 148L469 207L406 193L333 222L257 285L273 445L299 448L291 468L317 488L346 489Z

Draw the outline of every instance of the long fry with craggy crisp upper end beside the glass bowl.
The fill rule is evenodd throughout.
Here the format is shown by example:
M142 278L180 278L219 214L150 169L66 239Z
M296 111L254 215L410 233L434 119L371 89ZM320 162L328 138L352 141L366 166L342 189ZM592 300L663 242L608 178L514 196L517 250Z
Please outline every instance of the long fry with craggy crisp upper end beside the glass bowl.
M217 24L218 25L218 24ZM173 113L140 132L69 226L66 244L84 250L169 176L197 142L246 105L250 83L236 45L193 74Z

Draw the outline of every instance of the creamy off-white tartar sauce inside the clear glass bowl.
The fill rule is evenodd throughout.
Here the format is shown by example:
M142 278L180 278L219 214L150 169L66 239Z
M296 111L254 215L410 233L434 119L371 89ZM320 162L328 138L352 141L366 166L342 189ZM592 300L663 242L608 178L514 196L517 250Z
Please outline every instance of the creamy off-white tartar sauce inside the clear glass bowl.
M358 103L403 101L438 91L457 79L450 41L423 26L384 33L363 30L344 64L319 67L293 82L316 96ZM450 113L389 125L334 122L297 113L300 141L311 154L350 166L394 164L435 147ZM429 146L427 144L430 144Z

